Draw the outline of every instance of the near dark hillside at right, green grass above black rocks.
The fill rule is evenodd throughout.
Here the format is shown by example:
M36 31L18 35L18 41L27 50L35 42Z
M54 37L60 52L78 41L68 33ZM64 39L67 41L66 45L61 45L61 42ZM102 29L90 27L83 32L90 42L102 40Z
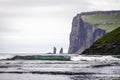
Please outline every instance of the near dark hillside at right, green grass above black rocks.
M120 55L120 27L98 39L82 54L86 55Z

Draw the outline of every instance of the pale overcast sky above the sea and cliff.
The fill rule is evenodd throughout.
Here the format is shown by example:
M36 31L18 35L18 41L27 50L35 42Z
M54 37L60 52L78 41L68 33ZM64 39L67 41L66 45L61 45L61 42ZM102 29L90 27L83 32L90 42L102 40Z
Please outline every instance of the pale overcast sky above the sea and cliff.
M120 0L0 0L0 53L67 52L72 18L95 10L120 10Z

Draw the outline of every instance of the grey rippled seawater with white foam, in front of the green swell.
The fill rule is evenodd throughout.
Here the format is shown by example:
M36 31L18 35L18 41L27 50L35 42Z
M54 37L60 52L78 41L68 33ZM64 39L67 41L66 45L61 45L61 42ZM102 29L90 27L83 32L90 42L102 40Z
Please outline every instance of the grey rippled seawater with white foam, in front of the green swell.
M119 56L73 56L71 61L0 60L0 80L120 80Z

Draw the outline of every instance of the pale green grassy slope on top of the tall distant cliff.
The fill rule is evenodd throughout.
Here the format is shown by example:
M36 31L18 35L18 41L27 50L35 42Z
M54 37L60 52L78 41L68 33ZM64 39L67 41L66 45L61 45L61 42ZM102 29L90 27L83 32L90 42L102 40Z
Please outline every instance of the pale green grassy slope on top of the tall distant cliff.
M85 15L85 16L82 16L82 18L85 22L88 22L91 24L100 24L98 26L98 28L107 30L108 32L110 32L120 26L120 14Z

